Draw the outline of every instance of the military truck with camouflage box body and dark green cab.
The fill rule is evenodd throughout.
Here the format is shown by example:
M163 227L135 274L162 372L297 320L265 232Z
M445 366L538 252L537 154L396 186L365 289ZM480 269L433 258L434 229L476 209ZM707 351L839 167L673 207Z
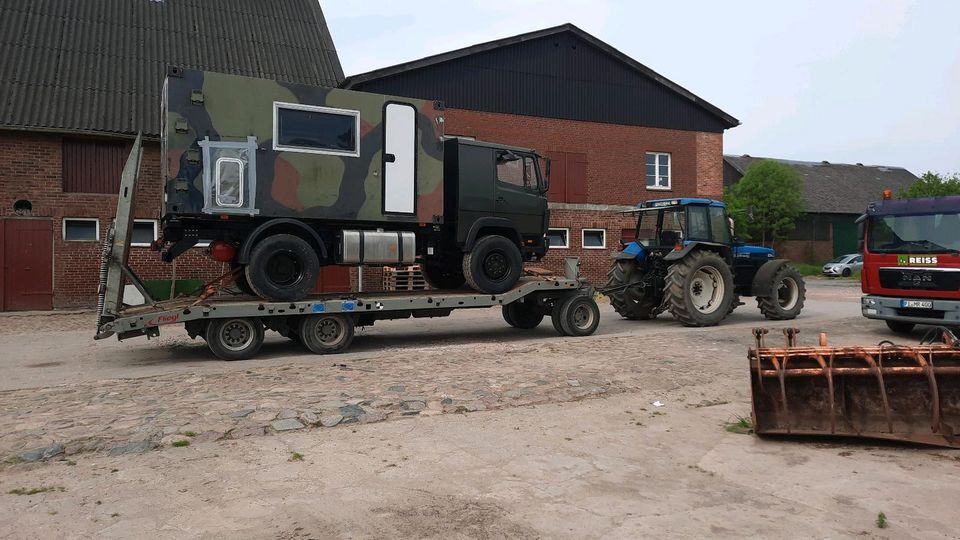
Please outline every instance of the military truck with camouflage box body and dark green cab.
M324 265L414 261L438 288L505 292L546 253L549 161L443 122L435 101L170 68L155 246L170 262L210 242L269 300Z

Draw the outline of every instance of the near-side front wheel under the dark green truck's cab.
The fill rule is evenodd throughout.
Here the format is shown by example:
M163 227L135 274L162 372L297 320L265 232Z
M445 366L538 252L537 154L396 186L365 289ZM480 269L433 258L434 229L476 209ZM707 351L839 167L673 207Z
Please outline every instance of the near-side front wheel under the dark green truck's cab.
M520 248L500 235L484 236L463 256L463 275L471 288L487 294L509 291L520 280Z

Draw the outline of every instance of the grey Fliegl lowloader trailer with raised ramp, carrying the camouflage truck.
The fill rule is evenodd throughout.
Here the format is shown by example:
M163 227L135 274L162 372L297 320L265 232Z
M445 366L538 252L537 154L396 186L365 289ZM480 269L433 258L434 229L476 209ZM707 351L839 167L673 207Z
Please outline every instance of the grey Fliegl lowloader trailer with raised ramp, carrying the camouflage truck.
M580 279L579 261L573 257L567 260L564 276L541 272L521 278L501 294L473 290L333 293L274 302L246 295L215 296L216 287L210 284L199 298L155 301L128 265L141 153L138 137L123 170L116 219L103 249L95 339L156 337L161 326L183 324L190 337L204 338L217 357L242 360L257 354L265 330L297 340L317 354L338 353L349 347L356 326L386 319L445 317L455 309L500 306L504 320L521 329L535 328L549 316L557 332L567 336L590 335L600 322L594 290ZM143 295L144 304L123 303L126 281Z

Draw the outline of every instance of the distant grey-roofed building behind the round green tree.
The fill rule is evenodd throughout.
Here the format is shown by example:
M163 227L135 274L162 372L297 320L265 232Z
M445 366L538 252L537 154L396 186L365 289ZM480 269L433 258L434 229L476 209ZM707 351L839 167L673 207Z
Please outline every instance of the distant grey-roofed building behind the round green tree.
M732 186L750 165L764 159L748 155L723 157L723 182ZM856 220L867 205L883 195L910 187L918 179L902 167L848 165L828 161L773 159L803 178L804 213L789 238L776 242L777 255L813 264L857 252Z

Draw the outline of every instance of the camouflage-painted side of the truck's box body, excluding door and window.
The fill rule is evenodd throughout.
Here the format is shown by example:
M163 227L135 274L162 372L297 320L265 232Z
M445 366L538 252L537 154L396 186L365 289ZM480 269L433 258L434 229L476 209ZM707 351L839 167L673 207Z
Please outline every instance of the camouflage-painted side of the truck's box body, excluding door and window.
M274 102L359 111L360 155L274 150ZM383 211L383 118L388 103L416 110L413 215ZM434 102L184 69L164 83L162 107L168 215L205 215L201 141L245 142L254 136L259 216L442 222L443 111Z

